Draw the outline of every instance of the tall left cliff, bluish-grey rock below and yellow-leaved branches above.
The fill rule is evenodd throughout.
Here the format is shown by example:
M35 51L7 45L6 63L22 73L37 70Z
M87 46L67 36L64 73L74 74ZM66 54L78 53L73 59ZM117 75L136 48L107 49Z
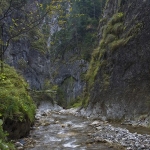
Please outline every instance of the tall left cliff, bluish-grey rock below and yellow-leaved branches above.
M41 89L50 70L42 25L38 26L45 13L39 15L38 3L33 0L6 3L6 8L1 8L1 59L4 51L5 62L20 70L32 89ZM9 45L7 49L5 45Z

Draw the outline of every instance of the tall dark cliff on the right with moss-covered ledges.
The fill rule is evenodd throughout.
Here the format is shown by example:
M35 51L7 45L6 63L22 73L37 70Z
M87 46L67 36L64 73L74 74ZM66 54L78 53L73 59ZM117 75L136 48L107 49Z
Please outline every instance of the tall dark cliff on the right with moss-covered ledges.
M149 9L148 0L108 1L87 73L91 114L136 119L149 113Z

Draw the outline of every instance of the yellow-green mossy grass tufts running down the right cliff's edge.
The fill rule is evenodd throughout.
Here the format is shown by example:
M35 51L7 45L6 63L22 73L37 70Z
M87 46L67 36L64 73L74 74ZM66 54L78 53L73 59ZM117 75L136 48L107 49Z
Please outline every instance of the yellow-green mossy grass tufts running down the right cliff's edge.
M119 1L121 5L123 1ZM102 37L99 46L94 49L89 69L86 74L87 88L84 95L84 104L88 104L90 99L90 91L94 88L94 83L100 83L100 90L106 91L110 85L110 75L112 68L111 55L119 48L125 46L129 40L135 37L143 28L142 23L133 26L124 26L124 14L118 12L110 19L101 19L100 29ZM99 26L100 27L100 26ZM98 78L97 78L98 76ZM100 80L100 81L99 81Z

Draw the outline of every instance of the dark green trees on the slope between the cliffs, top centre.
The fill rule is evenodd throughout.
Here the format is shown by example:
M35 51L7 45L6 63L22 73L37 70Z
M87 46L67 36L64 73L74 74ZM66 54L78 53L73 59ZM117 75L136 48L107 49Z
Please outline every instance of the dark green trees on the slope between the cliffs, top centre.
M51 39L53 57L57 58L59 54L63 57L65 52L74 50L81 58L90 60L91 49L98 43L97 26L104 4L105 0L71 0L66 11L68 2L59 3L62 11L59 12L58 23L62 29Z

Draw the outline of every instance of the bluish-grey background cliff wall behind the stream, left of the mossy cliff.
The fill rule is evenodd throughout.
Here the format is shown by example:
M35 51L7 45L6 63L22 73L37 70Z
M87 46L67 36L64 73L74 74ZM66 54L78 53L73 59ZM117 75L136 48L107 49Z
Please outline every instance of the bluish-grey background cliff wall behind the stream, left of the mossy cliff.
M68 7L68 5L65 7ZM61 30L58 17L57 12L47 16L39 29L33 29L24 36L14 39L5 52L5 62L14 66L23 74L31 89L41 90L47 81L57 84L61 91L58 95L61 93L60 97L64 99L67 105L68 102L82 93L85 82L81 78L87 70L87 62L81 57L78 58L79 54L73 48L62 54L62 47L59 49L60 58L53 61L55 48L51 48L51 38ZM42 29L46 38L43 38L43 33L38 33ZM47 42L47 45L37 43L40 38ZM61 55L63 55L63 58L61 58ZM63 101L60 97L58 97L59 101Z

